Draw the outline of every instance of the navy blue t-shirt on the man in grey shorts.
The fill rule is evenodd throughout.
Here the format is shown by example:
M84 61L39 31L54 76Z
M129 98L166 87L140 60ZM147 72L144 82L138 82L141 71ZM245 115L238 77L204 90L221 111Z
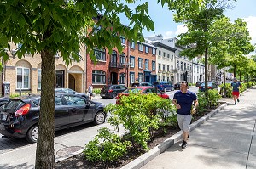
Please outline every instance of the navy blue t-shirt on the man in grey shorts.
M182 91L177 91L174 93L173 99L177 100L177 104L181 106L180 109L177 110L177 114L180 115L190 115L191 106L193 101L196 100L196 95L189 90L187 93L182 93Z

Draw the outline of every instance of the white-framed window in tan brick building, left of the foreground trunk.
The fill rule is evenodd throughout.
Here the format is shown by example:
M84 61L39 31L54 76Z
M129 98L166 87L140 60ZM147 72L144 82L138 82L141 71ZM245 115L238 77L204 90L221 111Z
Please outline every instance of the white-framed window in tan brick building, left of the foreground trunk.
M30 70L25 67L18 67L17 70L17 89L29 89Z

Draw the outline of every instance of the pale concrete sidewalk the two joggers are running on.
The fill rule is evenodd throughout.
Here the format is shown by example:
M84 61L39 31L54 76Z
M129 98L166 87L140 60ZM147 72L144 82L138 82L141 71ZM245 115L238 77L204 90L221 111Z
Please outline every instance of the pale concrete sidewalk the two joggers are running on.
M255 169L256 88L190 132L186 149L182 140L144 164L142 169Z

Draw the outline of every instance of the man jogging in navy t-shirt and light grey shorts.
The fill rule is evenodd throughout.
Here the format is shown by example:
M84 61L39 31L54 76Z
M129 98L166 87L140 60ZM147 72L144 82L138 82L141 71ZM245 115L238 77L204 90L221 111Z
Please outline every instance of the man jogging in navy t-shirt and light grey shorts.
M188 82L181 82L180 90L174 93L172 99L172 103L177 108L178 126L183 131L183 149L186 148L189 138L189 124L192 119L191 114L196 112L198 105L196 94L188 89Z

